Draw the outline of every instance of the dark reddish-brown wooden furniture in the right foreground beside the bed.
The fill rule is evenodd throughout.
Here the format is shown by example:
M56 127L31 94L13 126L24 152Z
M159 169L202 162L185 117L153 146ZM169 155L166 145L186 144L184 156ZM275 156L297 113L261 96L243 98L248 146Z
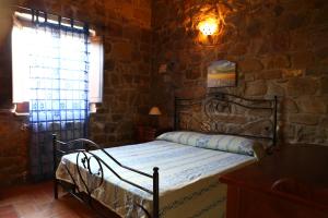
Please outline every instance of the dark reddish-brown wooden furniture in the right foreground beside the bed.
M227 218L327 218L328 147L286 146L226 173Z

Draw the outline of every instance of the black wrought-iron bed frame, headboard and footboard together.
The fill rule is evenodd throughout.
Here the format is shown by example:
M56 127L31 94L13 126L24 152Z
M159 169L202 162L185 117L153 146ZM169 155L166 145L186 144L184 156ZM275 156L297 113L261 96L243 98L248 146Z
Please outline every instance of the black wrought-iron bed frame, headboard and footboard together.
M183 110L188 107L192 106L201 106L202 107L202 113L206 114L206 118L208 119L207 121L201 122L201 124L210 124L209 122L212 122L211 114L212 113L218 113L222 112L222 104L223 108L230 108L231 105L236 105L241 106L242 108L246 109L261 109L261 110L270 110L272 112L272 135L271 136L258 136L258 135L245 135L245 134L231 134L231 135L239 135L239 136L246 136L246 137L254 137L258 140L269 140L272 141L272 147L277 144L277 97L274 96L273 99L248 99L244 97L239 97L236 95L232 94L225 94L225 93L214 93L214 94L208 94L203 98L175 98L175 112L174 112L174 128L175 130L179 129L180 125L180 112L179 110ZM257 104L268 104L268 106L254 106ZM191 112L192 113L192 112ZM190 117L190 120L192 118ZM206 130L207 133L220 133L218 130ZM224 133L224 134L230 134L230 133ZM73 145L80 144L82 145L82 148L80 149L70 149ZM61 148L61 146L65 146L65 149ZM79 138L79 140L73 140L70 142L61 142L57 140L57 135L52 134L52 149L54 149L54 195L55 198L58 198L58 185L61 185L65 187L66 191L68 191L70 194L72 194L74 197L77 197L79 201L86 203L91 208L95 209L95 206L93 204L93 198L92 198L92 192L95 190L92 187L87 186L87 181L85 181L81 174L81 168L86 170L89 173L96 175L99 178L99 182L97 186L101 186L104 182L104 168L107 168L110 170L118 179L120 179L124 182L127 182L128 184L136 186L149 194L152 194L153 196L153 211L152 215L140 204L136 204L136 206L140 207L148 217L152 218L159 218L160 216L160 177L159 177L159 168L154 167L153 168L153 174L144 173L141 172L137 169L133 169L131 167L121 165L117 159L115 159L110 154L108 154L102 146L97 145L96 143L85 140L85 138ZM130 170L134 173L140 174L141 177L147 177L151 180L153 180L153 190L149 190L143 187L142 185L136 184L131 181L128 181L119 175L118 172L116 172L110 166L108 166L104 160L102 160L98 156L94 155L91 153L93 149L99 149L102 150L107 157L109 157L116 165L119 167ZM67 187L66 182L60 181L56 178L56 170L58 167L58 162L60 161L60 158L63 155L71 154L71 153L77 153L77 171L78 171L78 177L81 179L82 184L84 186L84 190L86 193L83 193L73 177L73 174L69 171L68 168L67 171L73 182L71 184L71 187ZM81 158L81 162L79 165L79 157ZM98 170L96 172L91 170L91 160L95 160L98 165ZM85 197L86 195L86 197ZM97 210L98 214L98 210Z

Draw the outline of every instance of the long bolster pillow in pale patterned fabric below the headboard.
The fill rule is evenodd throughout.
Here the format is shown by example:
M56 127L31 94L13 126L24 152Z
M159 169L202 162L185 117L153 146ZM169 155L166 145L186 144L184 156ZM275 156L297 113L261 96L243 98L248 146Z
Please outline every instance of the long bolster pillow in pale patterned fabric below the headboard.
M265 154L260 143L250 138L234 135L209 135L196 132L177 131L164 133L156 140L168 141L195 147L255 156L257 158L262 157Z

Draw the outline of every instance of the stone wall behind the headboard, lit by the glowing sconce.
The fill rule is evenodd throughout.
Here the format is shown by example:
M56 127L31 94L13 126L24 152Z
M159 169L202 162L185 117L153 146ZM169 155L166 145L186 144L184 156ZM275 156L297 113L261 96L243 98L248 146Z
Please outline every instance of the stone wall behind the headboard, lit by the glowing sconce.
M152 84L153 101L167 112L162 125L172 125L174 96L203 95L207 66L230 60L237 62L238 85L224 92L279 97L280 142L328 145L327 1L214 2L154 1ZM224 25L220 35L207 38L197 23L213 5ZM169 68L161 74L163 63Z

